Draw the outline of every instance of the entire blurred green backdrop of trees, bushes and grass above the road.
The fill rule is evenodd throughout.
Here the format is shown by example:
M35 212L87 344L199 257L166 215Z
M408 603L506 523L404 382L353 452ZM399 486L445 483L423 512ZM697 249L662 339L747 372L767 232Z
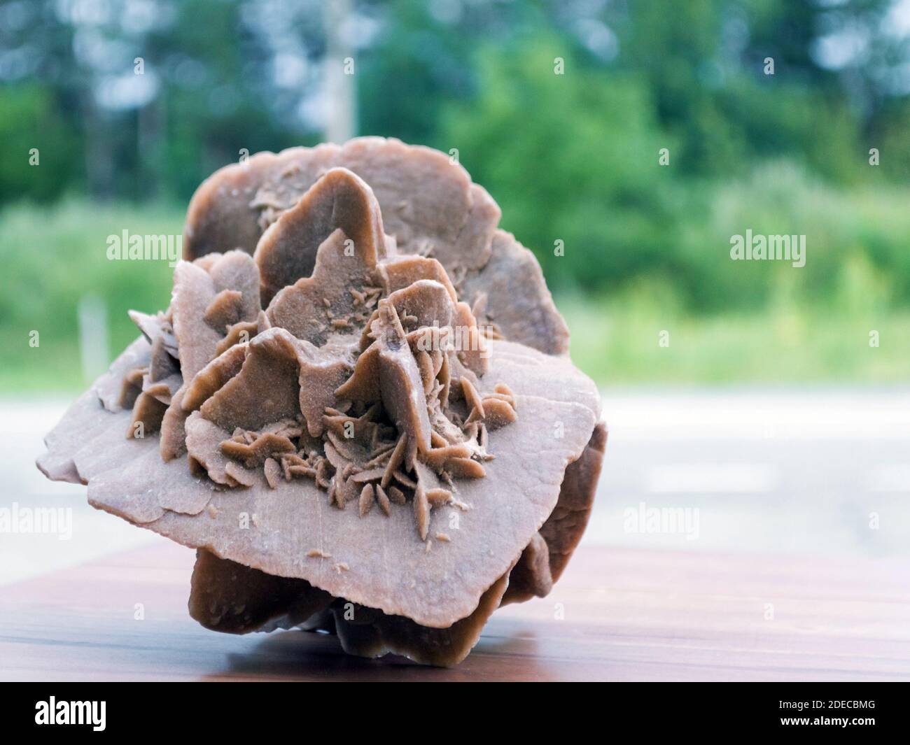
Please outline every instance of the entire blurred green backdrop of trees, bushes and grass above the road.
M592 374L660 378L652 327L672 321L673 379L905 375L910 54L892 0L350 3L359 133L458 150L568 298ZM105 300L114 348L127 307L167 305L170 268L106 261L107 235L179 233L218 166L318 142L331 95L315 0L151 0L143 23L89 5L0 2L0 375L17 386L42 385L35 354L75 364L79 297ZM805 267L731 261L747 229L805 235Z

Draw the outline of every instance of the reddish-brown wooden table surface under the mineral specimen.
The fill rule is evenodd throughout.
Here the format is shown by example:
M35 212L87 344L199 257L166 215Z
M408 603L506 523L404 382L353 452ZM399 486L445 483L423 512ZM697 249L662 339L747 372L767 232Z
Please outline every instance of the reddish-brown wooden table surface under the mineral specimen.
M0 679L910 680L904 559L580 549L550 597L497 611L455 669L202 629L193 560L162 539L0 588Z

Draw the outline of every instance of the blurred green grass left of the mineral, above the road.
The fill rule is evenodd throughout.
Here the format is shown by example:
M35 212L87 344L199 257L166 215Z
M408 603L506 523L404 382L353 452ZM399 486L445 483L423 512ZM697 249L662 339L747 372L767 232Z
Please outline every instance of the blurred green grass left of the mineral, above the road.
M85 384L77 307L98 298L109 324L110 357L137 336L130 308L167 307L173 269L167 260L109 261L107 237L179 235L183 210L168 206L64 201L21 204L0 213L0 391L73 390ZM29 346L31 331L38 347Z

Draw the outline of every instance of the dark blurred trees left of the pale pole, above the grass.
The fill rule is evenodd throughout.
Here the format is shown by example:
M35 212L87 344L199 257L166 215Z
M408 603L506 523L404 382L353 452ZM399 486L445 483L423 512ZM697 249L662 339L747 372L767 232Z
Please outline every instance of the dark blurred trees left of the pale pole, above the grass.
M0 4L0 103L12 115L40 90L45 144L70 161L55 190L33 196L84 185L96 197L184 200L242 148L316 141L319 122L299 110L319 78L308 62L323 52L320 25L315 0Z

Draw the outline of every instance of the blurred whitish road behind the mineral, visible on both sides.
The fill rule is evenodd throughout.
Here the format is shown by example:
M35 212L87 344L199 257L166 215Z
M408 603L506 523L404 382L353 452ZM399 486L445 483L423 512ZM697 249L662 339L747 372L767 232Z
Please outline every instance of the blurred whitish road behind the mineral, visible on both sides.
M37 471L67 404L0 400L0 508L72 508L70 539L0 533L0 584L166 540ZM910 554L910 389L610 389L603 405L610 438L587 544Z

